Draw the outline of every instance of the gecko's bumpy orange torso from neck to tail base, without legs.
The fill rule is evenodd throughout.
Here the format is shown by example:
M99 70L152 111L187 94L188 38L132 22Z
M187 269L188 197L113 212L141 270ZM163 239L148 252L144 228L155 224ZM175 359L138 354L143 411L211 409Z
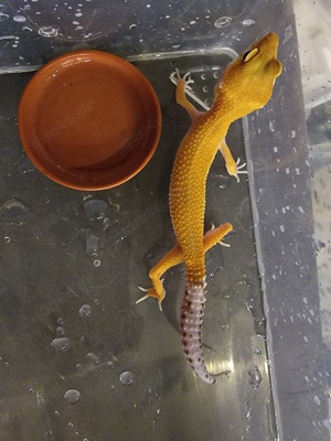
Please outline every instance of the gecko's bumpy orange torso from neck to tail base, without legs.
M191 282L199 282L205 277L205 183L220 140L226 135L227 126L223 120L214 108L196 118L178 150L171 175L171 219Z

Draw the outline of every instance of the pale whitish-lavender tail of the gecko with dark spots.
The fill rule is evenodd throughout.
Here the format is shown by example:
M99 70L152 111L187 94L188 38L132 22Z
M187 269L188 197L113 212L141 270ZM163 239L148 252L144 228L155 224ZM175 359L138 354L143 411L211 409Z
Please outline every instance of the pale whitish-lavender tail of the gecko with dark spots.
M214 384L215 379L207 372L201 346L201 332L204 314L205 279L197 283L186 281L185 294L181 305L181 337L182 345L190 366L205 383Z

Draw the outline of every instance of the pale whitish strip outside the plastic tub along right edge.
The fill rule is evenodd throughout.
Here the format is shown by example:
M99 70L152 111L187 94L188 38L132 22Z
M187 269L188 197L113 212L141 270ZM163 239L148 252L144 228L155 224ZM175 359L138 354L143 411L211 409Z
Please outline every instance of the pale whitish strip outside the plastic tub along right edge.
M329 3L323 0L314 2L313 7L309 1L298 1L295 7L311 166L310 187L314 222L314 237L311 246L316 252L320 293L319 311L309 310L308 306L307 316L308 320L317 318L321 320L325 345L323 356L329 377L331 359L331 15ZM296 135L292 130L292 137ZM313 383L311 378L309 380ZM328 385L330 387L330 378ZM330 395L328 396L329 417L325 418L323 424L330 431L331 400ZM313 397L313 401L318 406L321 404L319 397Z

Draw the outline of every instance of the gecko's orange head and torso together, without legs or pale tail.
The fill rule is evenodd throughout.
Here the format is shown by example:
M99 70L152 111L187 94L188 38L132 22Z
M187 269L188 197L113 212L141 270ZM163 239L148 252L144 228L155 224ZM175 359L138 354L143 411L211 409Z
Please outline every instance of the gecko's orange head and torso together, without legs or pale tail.
M194 118L178 150L170 183L170 213L191 282L197 283L205 277L203 222L207 173L228 126L265 106L270 98L275 78L281 73L277 47L278 36L269 33L247 50L245 54L258 49L248 62L239 55L226 67L215 87L213 107Z

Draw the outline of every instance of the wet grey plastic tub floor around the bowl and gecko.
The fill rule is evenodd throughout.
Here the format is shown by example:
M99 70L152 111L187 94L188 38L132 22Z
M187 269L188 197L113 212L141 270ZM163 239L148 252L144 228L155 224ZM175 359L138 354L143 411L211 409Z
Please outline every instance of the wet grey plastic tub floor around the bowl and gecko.
M232 222L234 233L231 248L206 256L203 342L210 370L228 374L206 387L183 357L183 266L166 276L163 313L152 299L135 304L138 284L149 286L149 269L174 241L168 185L190 120L168 77L174 67L192 72L210 105L228 61L140 62L162 106L160 146L136 179L96 193L62 187L32 166L15 127L31 74L0 78L2 440L275 439L247 178L227 176L221 154L207 180L205 227ZM245 160L242 122L227 139Z

